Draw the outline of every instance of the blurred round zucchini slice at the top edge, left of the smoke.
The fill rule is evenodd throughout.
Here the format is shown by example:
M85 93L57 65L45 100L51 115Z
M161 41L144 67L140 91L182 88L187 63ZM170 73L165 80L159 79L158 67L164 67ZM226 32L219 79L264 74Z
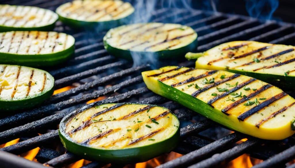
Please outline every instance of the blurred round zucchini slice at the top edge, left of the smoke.
M74 0L56 9L59 19L75 28L109 30L128 23L133 6L120 0Z

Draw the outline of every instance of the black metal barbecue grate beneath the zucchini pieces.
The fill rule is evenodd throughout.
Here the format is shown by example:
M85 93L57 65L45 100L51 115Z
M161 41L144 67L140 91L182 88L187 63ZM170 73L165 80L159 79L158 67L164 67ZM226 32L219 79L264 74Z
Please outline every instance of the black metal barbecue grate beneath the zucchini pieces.
M0 0L1 4L38 6L55 10L64 2L59 0ZM246 16L210 13L200 10L158 8L152 12L150 21L170 22L191 26L198 33L199 51L233 40L254 40L277 44L294 45L295 25L276 21L260 21ZM44 167L42 164L17 157L40 147L36 159L47 166L62 167L81 158L66 152L60 154L58 146L58 123L60 120L87 101L96 99L102 103L139 102L158 104L175 112L181 120L181 142L175 152L182 157L158 166L162 167L214 167L242 154L264 161L260 167L285 167L295 158L295 137L281 141L267 141L229 130L199 116L195 112L153 94L144 85L140 72L150 69L149 65L130 66L125 60L108 55L102 37L105 32L93 36L88 31L72 30L58 22L54 31L71 34L76 39L75 57L65 65L46 69L55 77L55 89L71 88L53 95L42 106L17 114L1 114L0 144L19 139L17 144L0 149L0 160L6 167ZM194 66L193 62L179 61L179 66ZM171 62L164 62L171 64ZM163 64L162 64L163 65ZM74 87L71 87L74 86ZM106 87L107 86L107 87ZM292 93L289 93L292 95ZM294 94L293 94L294 95ZM193 121L193 122L191 122ZM209 130L209 131L208 131ZM208 136L206 132L215 135ZM43 133L38 135L37 133ZM209 134L210 135L210 134ZM236 143L241 139L246 141ZM59 149L64 151L64 149ZM103 167L107 163L91 162L83 168ZM111 164L111 167L124 165ZM295 164L290 165L295 167Z

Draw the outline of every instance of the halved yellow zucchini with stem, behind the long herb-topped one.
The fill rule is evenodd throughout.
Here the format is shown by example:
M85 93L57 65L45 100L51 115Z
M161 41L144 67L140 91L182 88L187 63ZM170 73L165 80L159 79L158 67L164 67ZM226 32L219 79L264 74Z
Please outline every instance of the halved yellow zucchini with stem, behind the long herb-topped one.
M196 68L226 70L257 79L293 87L295 84L295 47L256 41L233 41L203 53L188 53L197 58Z

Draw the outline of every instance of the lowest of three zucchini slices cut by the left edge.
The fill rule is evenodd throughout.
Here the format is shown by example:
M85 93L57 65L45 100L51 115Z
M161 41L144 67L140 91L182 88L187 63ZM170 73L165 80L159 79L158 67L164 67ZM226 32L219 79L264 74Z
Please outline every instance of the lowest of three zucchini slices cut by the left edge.
M0 65L0 110L29 109L53 94L54 78L41 69Z

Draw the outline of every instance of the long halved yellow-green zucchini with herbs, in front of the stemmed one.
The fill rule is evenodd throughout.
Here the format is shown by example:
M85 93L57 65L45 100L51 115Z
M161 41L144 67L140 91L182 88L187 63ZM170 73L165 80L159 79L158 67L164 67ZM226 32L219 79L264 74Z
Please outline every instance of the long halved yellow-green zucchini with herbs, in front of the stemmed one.
M176 66L142 76L153 92L230 129L273 140L294 134L295 100L266 82L227 71Z

